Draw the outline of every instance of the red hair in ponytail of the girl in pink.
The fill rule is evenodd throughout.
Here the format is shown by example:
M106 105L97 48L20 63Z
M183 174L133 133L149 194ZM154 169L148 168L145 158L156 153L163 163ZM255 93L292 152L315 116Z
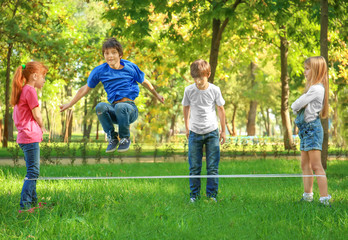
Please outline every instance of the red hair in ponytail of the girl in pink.
M15 106L22 93L23 85L26 84L30 76L34 73L46 75L48 68L41 62L28 62L26 65L19 66L12 81L12 93L10 103Z

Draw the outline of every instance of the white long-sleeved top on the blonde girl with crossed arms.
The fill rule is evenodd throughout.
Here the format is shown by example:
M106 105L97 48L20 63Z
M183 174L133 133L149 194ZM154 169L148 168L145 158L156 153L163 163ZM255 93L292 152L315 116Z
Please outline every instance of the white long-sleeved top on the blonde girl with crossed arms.
M319 116L319 112L323 108L325 96L325 88L323 84L312 85L308 91L299 97L292 105L292 111L297 114L305 107L304 120L311 122Z

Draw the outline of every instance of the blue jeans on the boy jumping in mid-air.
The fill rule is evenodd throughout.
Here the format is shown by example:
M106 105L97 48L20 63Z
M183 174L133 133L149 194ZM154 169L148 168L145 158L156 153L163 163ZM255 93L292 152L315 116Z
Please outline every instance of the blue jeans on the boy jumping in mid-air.
M138 118L138 108L134 102L98 103L95 110L109 138L117 136L114 124L118 124L120 138L130 137L129 125Z

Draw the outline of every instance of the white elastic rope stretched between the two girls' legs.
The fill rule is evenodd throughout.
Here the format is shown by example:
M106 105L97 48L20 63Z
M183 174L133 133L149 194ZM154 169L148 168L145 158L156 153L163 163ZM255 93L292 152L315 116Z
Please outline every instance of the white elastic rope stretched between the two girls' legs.
M303 178L326 177L326 175L302 174L240 174L240 175L178 175L178 176L131 176L131 177L39 177L25 180L109 180L109 179L168 179L168 178Z

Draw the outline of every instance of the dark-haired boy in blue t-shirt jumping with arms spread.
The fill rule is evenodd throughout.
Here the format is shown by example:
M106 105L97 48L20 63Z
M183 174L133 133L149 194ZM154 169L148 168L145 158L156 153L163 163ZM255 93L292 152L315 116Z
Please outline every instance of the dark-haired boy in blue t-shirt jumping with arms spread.
M117 146L118 152L125 152L131 143L129 126L138 118L138 109L134 103L139 95L138 83L147 88L161 103L164 103L164 98L145 79L145 74L137 65L122 59L123 49L115 38L107 39L102 51L106 63L92 70L87 84L77 91L69 103L61 105L60 111L72 107L101 82L109 103L98 103L96 112L109 139L106 152L114 152ZM115 131L114 124L118 124L119 133Z

